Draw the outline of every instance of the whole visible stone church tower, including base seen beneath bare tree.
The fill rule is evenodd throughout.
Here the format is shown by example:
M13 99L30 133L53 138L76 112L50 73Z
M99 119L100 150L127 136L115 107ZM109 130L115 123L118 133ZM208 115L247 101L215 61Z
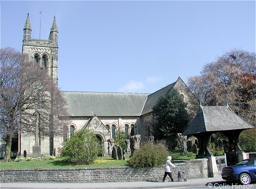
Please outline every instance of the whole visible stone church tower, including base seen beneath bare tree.
M46 69L52 78L52 82L58 86L58 29L55 16L49 39L31 39L31 25L28 13L23 29L22 55L38 64L42 69ZM26 140L21 141L22 148L27 149L31 153L30 142ZM39 141L41 141L39 145L42 148L43 154L47 154L48 151L52 155L55 152L54 145L60 145L59 139L55 139L53 136L50 136L49 139L40 139Z

